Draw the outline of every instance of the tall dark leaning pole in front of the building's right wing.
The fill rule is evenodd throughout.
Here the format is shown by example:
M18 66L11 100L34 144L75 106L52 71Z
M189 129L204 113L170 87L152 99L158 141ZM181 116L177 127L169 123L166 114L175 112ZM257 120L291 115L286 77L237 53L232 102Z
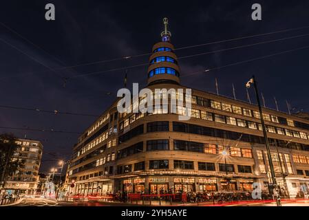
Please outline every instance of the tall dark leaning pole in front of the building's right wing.
M267 151L267 155L268 155L268 163L269 163L269 166L270 166L271 179L273 181L273 186L274 186L275 190L277 190L277 181L276 181L276 177L275 177L273 159L271 159L270 146L269 146L268 137L267 137L267 133L266 133L266 126L265 126L265 123L264 123L261 102L259 100L259 91L257 89L257 81L255 80L255 76L252 76L251 80L246 84L246 87L247 88L250 87L250 84L253 84L253 86L255 88L255 95L256 95L256 98L257 98L257 106L259 107L259 118L261 118L261 124L262 124L262 129L263 129L263 134L264 134L264 141L265 141L266 151ZM281 206L279 194L276 197L276 202L277 202L277 206Z

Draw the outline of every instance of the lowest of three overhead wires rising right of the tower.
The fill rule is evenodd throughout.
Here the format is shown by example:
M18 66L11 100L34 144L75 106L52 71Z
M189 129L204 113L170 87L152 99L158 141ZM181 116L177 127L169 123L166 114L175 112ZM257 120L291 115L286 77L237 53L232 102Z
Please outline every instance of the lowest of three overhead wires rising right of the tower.
M243 63L249 63L249 62L252 62L252 61L261 60L263 58L268 58L268 57L286 54L286 53L290 53L290 52L295 52L297 50L304 50L304 49L308 49L308 48L309 48L309 45L305 46L305 47L297 47L297 48L292 49L292 50L285 50L283 52L278 52L278 53L275 53L275 54L268 54L268 55L265 55L265 56L259 56L259 57L256 57L256 58L248 59L246 61L239 61L237 63L231 63L231 64L223 65L223 66L220 66L220 67L213 67L213 68L210 68L210 69L204 69L202 71L193 72L191 74L184 74L184 75L182 75L182 77L193 76L193 75L201 74L201 73L205 73L205 72L211 72L211 71L216 70L216 69L222 69L222 68L225 68L225 67L231 67L231 66L235 66L235 65L239 65L239 64L243 64Z

